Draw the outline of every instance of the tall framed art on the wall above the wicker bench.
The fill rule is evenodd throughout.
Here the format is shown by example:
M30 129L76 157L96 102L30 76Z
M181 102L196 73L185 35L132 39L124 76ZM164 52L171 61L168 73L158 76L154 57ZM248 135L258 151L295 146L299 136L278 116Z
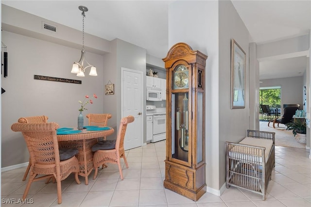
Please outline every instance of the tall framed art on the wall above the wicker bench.
M245 108L246 53L231 39L231 109Z

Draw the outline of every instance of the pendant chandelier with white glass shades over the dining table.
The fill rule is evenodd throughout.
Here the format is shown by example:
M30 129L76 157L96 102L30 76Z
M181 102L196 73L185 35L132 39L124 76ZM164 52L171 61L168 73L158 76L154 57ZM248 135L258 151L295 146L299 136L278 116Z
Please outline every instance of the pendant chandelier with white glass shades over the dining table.
M82 25L83 25L82 50L81 50L81 57L80 57L79 62L74 62L72 65L71 73L76 73L77 76L79 76L79 77L85 77L84 72L85 72L86 68L90 67L91 70L90 70L88 75L97 76L96 67L94 65L89 64L85 58L86 51L84 49L84 18L86 17L85 12L87 12L88 9L86 6L79 6L79 10L82 11L81 15L83 16L83 19L82 19ZM84 64L87 64L87 65L84 66Z

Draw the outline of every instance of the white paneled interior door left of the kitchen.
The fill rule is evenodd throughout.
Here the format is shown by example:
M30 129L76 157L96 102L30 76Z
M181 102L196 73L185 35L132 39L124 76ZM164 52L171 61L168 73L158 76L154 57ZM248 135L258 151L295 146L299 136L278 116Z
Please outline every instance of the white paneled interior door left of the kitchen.
M135 121L126 128L124 149L132 149L142 145L142 72L121 68L122 73L122 117L132 115Z

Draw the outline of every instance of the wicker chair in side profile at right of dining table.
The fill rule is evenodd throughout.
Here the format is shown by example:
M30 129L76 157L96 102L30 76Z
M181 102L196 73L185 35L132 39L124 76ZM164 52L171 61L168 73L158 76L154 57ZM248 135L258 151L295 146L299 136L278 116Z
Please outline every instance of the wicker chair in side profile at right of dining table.
M132 123L134 119L134 116L131 115L123 117L120 122L120 127L116 140L104 140L95 144L92 147L92 151L95 152L93 156L93 163L95 168L95 174L93 179L95 179L97 176L99 166L104 167L105 163L113 163L118 164L121 180L123 180L120 158L124 159L126 168L128 168L123 143L127 124Z

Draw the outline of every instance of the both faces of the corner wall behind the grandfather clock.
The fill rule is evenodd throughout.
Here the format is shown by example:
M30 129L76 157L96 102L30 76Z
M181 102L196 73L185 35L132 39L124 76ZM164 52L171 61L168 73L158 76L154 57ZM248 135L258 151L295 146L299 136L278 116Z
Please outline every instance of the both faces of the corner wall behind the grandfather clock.
M245 120L249 119L248 80L245 109L230 109L231 38L247 53L248 77L248 31L231 1L174 1L170 4L169 47L185 42L208 55L206 183L207 191L214 194L221 194L225 183L225 141L242 140L248 128Z

